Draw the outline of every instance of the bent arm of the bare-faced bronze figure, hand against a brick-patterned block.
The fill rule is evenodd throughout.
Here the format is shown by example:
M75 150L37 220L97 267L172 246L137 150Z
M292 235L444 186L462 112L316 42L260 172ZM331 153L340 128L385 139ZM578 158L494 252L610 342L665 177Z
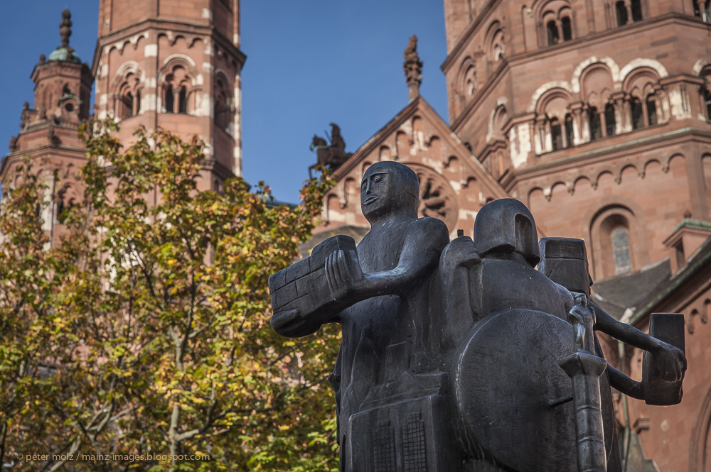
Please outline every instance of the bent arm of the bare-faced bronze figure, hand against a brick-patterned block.
M400 260L392 270L362 273L357 264L349 263L343 251L334 252L326 259L326 278L333 298L352 304L405 292L437 268L447 243L447 226L437 219L422 218L407 227Z

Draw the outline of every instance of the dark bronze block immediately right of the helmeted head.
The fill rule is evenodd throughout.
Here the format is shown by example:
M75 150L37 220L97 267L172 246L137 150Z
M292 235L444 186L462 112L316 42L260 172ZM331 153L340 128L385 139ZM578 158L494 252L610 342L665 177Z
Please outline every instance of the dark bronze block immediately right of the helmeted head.
M571 292L590 296L590 277L585 241L573 238L541 238L538 270Z

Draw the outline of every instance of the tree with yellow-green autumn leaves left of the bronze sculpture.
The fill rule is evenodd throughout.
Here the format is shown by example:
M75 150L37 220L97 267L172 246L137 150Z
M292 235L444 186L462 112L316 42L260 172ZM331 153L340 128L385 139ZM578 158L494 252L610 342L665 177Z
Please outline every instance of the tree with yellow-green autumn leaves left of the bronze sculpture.
M139 129L122 150L115 126L82 128L85 201L65 209L60 243L42 229L47 190L29 163L0 204L0 463L337 471L326 376L338 329L274 334L267 290L332 180L307 182L295 208L240 178L198 192L203 143Z

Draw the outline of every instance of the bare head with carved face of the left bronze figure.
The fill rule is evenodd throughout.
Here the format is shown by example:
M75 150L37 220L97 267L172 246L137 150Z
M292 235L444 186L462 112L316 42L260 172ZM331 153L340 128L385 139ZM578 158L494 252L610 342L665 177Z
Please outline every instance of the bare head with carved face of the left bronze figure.
M360 183L360 208L370 223L394 212L417 218L418 204L417 174L407 165L388 160L365 171Z

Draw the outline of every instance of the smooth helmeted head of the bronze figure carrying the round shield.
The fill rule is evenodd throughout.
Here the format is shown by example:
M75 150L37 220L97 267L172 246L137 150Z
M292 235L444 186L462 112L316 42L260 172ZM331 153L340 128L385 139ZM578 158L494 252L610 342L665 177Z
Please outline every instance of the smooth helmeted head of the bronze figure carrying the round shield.
M479 210L474 220L474 246L482 257L520 253L531 267L540 260L533 215L515 199L494 200Z

